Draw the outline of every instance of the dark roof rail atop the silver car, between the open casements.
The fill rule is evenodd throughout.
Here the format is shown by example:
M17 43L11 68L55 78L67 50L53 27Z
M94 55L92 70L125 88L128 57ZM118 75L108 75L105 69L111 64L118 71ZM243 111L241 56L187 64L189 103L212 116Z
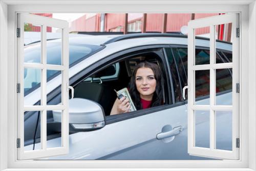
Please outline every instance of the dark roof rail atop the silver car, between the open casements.
M125 34L120 35L118 37L114 37L106 42L103 43L103 45L111 44L112 42L125 40L125 39L131 39L131 38L142 38L142 37L187 37L182 34L177 33L136 33L136 34Z

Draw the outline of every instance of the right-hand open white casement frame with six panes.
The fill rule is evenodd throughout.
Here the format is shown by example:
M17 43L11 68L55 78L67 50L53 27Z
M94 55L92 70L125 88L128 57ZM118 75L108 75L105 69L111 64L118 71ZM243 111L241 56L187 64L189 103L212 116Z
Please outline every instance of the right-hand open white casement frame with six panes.
M239 138L239 94L236 92L236 84L239 83L239 39L236 34L236 28L239 28L239 14L224 14L211 16L188 22L188 153L195 156L207 156L217 159L239 159L239 148L236 147L236 139ZM216 63L216 26L226 23L232 23L232 62ZM210 56L209 64L196 65L196 29L210 28ZM232 104L216 105L216 69L232 68ZM195 72L209 71L210 73L210 91L209 104L198 105L195 103ZM209 112L209 148L196 146L196 111ZM216 115L217 111L232 112L232 150L220 150L216 148Z

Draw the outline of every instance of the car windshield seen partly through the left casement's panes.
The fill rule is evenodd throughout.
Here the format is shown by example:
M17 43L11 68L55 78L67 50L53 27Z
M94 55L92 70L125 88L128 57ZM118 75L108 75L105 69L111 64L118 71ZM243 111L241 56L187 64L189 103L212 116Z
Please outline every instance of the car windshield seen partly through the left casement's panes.
M77 62L87 58L101 46L80 44L70 42L69 44L69 66L74 66ZM61 65L61 41L60 39L47 41L47 64ZM41 63L41 46L40 43L25 46L24 62ZM57 76L60 71L47 70L47 81ZM24 69L24 95L26 96L33 90L40 87L41 72L39 69Z

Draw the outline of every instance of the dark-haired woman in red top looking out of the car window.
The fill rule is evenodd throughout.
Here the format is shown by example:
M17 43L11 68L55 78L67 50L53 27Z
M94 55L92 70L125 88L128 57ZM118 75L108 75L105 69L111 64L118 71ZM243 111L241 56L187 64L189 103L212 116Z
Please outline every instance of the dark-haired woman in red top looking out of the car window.
M163 103L162 76L158 65L151 62L139 63L133 72L129 93L137 110L147 109ZM129 112L129 99L116 99L110 115Z

